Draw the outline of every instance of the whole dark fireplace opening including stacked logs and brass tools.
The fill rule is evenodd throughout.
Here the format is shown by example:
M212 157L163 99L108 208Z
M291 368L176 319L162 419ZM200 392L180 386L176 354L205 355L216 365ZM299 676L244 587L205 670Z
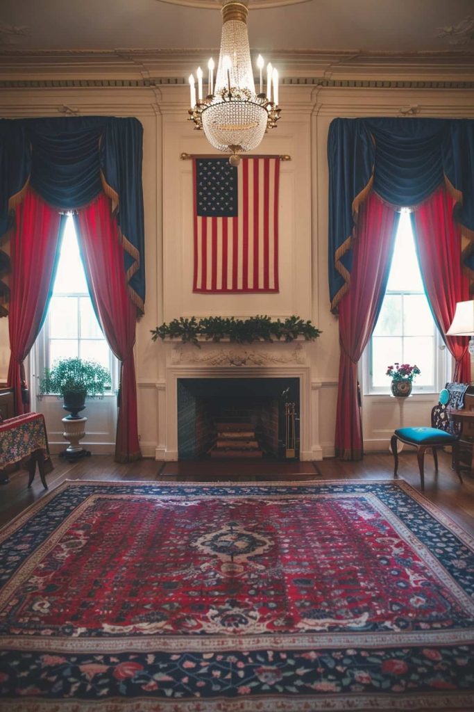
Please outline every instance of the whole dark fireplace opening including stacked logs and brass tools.
M299 392L297 377L178 378L178 459L299 459Z

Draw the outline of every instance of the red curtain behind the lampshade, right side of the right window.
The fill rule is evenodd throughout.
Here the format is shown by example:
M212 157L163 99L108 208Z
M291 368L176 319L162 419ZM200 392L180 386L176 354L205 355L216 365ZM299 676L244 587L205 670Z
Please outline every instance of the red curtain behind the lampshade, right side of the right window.
M460 225L453 219L454 204L443 186L411 213L411 224L431 311L456 361L453 380L469 383L469 337L446 336L456 302L470 299L469 279L461 264Z

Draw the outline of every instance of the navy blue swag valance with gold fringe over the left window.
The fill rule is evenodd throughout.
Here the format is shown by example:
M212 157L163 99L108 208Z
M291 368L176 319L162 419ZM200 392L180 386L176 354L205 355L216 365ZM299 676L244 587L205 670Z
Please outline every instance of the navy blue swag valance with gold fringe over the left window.
M107 194L117 215L129 296L143 313L142 137L135 118L0 120L0 316L7 313L9 297L3 281L9 257L1 250L2 238L28 185L63 210L85 206L102 191Z

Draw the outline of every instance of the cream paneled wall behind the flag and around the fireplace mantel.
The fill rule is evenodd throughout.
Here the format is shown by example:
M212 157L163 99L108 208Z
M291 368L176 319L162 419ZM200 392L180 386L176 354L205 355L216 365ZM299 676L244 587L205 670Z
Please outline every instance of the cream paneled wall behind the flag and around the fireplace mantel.
M328 127L334 117L398 116L409 105L422 117L473 117L473 90L317 88L284 85L282 117L259 152L287 153L281 164L279 294L194 295L192 293L192 180L181 152L209 153L200 132L187 122L188 92L161 88L50 88L2 90L0 115L57 116L58 107L77 107L81 115L136 116L144 125L144 204L146 313L137 325L136 376L139 433L146 456L163 447L166 433L165 347L150 330L178 316L293 313L323 330L309 350L311 426L318 429L323 454L333 454L338 383L338 323L328 298ZM5 368L5 325L0 320L0 379ZM3 355L2 355L3 354ZM388 385L388 384L387 384ZM414 396L405 424L428 422L435 397ZM387 397L363 399L366 449L388 445L398 425L398 409ZM57 426L50 425L58 431Z

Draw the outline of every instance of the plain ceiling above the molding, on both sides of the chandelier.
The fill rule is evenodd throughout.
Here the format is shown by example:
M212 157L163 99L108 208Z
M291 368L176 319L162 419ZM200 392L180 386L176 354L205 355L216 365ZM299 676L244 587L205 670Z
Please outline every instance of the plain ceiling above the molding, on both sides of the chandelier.
M200 0L181 1L192 5ZM264 9L252 9L251 0L250 8L252 51L474 54L473 0L308 0ZM1 0L0 53L117 48L202 48L216 53L220 26L218 5L203 9L171 0ZM437 37L440 28L448 26L453 30Z

